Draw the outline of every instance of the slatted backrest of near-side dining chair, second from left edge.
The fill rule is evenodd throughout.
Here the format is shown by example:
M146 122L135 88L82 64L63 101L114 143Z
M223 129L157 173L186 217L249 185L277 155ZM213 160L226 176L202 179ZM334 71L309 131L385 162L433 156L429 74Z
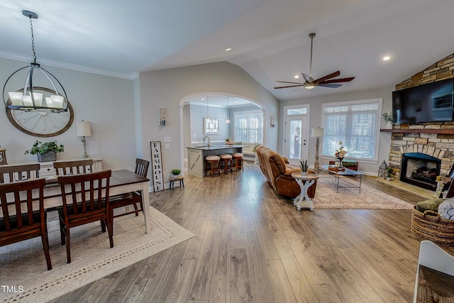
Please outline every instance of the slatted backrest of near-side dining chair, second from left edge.
M59 176L65 217L96 213L109 206L111 170ZM71 199L68 199L70 197ZM68 204L70 202L70 204Z

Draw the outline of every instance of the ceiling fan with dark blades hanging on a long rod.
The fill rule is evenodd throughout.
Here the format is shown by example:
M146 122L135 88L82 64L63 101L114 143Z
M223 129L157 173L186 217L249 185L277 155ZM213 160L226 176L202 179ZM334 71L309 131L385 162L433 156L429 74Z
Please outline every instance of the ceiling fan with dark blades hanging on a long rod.
M305 82L299 83L299 82L276 81L276 82L280 82L280 83L287 83L287 84L293 84L293 85L287 85L284 87L275 87L275 89L285 89L288 87L304 87L305 89L314 89L315 87L336 88L336 87L340 87L342 84L334 84L334 83L350 82L351 80L355 79L355 77L331 79L333 77L338 77L338 75L341 75L341 72L339 72L339 71L333 72L329 75L326 75L326 76L321 77L316 80L314 80L314 78L312 78L312 45L314 43L314 37L315 37L315 33L309 34L309 38L311 38L311 67L310 67L310 71L309 71L309 76L301 72L301 75L303 75Z

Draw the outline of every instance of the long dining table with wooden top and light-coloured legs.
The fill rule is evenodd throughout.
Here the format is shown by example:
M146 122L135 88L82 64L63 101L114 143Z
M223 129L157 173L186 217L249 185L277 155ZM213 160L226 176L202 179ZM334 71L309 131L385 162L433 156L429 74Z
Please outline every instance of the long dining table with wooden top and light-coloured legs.
M47 177L45 182L44 208L51 211L56 209L57 206L62 205L62 192L56 176ZM126 194L128 192L141 192L145 233L150 232L150 224L147 224L148 216L150 216L149 182L150 179L142 177L131 170L112 170L109 180L109 196Z

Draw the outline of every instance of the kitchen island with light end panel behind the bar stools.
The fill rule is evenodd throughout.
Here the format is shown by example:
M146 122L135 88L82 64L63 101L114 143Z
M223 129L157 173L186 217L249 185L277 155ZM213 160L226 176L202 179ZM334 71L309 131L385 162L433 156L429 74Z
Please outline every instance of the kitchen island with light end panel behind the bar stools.
M187 147L187 172L191 175L204 177L205 157L207 155L222 155L223 153L243 153L243 148L249 145L214 145L214 146L190 146Z

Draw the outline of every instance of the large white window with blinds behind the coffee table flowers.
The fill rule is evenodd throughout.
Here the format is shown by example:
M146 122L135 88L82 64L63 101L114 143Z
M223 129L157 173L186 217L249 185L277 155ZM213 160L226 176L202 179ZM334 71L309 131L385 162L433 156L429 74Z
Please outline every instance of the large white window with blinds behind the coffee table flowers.
M322 155L334 157L339 142L347 158L377 160L382 99L323 104Z

